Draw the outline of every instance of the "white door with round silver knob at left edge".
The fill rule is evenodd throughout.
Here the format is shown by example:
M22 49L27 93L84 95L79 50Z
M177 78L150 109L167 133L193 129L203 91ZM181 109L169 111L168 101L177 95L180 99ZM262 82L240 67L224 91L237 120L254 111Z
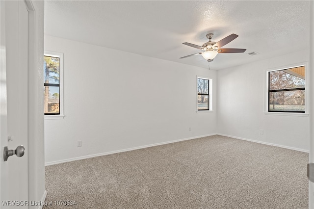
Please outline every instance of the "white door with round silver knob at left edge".
M0 12L0 204L1 208L28 208L27 202L24 202L28 200L28 11L25 1L19 0L1 1ZM14 155L4 161L3 147L15 150L19 145L25 147L25 155L23 157Z

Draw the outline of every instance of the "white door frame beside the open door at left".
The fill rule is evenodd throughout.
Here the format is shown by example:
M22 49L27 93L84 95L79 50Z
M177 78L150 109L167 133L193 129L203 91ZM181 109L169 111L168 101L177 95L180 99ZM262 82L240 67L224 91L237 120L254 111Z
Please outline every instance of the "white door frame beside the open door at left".
M43 202L47 195L43 114L44 1L25 2L28 10L28 200Z

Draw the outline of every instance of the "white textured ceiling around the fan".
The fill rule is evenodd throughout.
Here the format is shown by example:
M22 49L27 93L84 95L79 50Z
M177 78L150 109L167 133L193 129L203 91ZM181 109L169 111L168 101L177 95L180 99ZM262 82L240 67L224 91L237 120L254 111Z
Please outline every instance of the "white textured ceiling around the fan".
M218 54L219 70L309 49L310 1L45 1L45 34L107 48L208 68L201 45L239 35L223 48L244 53ZM249 52L258 55L248 55Z

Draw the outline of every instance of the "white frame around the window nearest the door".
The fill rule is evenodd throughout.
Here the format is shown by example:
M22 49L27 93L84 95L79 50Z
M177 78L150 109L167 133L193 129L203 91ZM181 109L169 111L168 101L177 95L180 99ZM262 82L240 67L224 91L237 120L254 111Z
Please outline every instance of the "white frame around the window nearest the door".
M52 56L59 58L59 114L45 114L45 120L63 119L64 118L64 100L63 100L63 53L44 51L44 56ZM44 81L45 86L45 81Z

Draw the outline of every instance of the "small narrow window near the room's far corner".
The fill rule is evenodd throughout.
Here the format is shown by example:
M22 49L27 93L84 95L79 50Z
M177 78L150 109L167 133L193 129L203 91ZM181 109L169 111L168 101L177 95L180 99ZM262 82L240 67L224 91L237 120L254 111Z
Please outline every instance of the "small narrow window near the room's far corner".
M209 78L197 78L197 111L212 110L211 83Z

